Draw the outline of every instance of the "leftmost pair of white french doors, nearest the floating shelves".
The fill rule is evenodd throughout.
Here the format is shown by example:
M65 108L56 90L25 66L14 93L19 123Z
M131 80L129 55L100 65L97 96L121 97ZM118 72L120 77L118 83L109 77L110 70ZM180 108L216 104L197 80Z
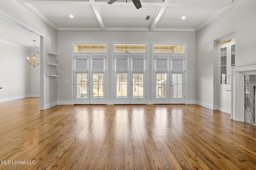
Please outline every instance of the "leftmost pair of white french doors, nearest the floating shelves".
M106 104L106 54L74 56L74 104Z

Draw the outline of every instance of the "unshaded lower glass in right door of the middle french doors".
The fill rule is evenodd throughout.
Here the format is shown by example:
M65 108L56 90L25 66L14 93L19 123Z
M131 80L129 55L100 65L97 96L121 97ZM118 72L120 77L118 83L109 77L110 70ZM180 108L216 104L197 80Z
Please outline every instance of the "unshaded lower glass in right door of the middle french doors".
M143 98L143 74L133 74L133 98Z

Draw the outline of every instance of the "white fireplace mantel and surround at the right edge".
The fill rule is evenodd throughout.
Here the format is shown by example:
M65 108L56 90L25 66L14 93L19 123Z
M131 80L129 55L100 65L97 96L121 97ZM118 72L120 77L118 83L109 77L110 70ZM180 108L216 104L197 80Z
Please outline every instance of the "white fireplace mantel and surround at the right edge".
M231 119L244 122L244 75L253 74L256 74L256 64L232 67Z

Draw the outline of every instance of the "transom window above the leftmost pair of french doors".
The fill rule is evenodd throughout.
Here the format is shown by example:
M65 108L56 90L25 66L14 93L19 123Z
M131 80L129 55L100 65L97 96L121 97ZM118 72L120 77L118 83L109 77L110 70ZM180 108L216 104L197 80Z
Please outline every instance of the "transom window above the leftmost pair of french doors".
M75 44L74 53L106 53L106 44Z

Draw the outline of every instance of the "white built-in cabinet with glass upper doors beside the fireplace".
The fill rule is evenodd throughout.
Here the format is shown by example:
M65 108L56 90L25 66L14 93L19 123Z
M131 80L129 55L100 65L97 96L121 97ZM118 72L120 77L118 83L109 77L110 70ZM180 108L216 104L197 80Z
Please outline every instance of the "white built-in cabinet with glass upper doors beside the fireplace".
M235 42L220 45L219 51L219 109L231 110L231 67L235 66Z

